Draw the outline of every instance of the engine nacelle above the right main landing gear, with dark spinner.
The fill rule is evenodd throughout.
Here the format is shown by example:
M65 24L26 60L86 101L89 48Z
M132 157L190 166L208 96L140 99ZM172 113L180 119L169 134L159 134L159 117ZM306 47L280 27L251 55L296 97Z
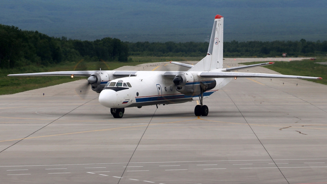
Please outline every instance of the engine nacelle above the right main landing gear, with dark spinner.
M190 72L182 72L176 75L173 79L173 83L176 86L176 91L185 95L198 95L200 93L195 94L197 90L193 87L193 81L194 77Z

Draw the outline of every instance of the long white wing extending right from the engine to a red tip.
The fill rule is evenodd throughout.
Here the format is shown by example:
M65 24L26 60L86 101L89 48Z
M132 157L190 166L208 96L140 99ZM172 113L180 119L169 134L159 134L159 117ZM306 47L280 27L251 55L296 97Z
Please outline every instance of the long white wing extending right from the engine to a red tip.
M263 77L263 78L294 78L294 79L322 79L321 77L306 77L297 75L279 75L267 73L242 73L242 72L200 72L202 78L234 78L234 77Z

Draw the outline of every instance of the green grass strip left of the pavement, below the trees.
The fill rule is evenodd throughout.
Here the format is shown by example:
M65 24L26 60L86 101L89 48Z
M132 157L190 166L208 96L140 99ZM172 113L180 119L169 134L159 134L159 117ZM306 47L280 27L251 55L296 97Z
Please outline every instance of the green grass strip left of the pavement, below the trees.
M32 89L68 83L86 77L66 77L66 76L49 76L49 77L8 77L8 74L33 73L33 72L51 72L51 71L71 71L71 70L113 70L121 66L135 66L143 63L165 62L165 61L199 61L199 58L181 58L181 57L132 57L132 62L66 62L52 66L24 66L13 69L0 69L0 95L14 94ZM78 64L78 65L77 65Z

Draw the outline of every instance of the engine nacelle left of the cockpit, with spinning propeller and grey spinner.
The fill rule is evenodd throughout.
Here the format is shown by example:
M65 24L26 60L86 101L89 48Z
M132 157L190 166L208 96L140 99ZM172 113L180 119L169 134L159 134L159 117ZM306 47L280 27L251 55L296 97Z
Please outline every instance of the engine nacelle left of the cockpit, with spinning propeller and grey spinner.
M109 75L105 71L97 71L93 73L87 81L91 84L91 89L93 91L100 93L109 81Z

